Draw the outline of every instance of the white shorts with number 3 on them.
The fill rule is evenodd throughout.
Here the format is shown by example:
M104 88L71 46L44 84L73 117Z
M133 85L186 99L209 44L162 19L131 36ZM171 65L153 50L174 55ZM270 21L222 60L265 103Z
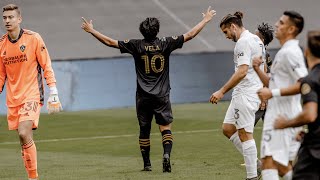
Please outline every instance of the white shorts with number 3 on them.
M253 133L255 113L259 109L259 102L249 101L244 95L232 97L223 123L233 124L237 129L244 128Z

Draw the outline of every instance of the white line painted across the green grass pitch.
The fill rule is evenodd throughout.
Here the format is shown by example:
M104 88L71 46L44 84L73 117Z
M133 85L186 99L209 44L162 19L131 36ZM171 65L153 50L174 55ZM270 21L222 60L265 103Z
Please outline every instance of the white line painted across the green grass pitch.
M261 127L256 127L255 129L261 129ZM172 134L194 134L194 133L207 133L207 132L216 132L222 131L221 129L207 129L207 130L195 130L195 131L173 131ZM151 133L151 136L159 136L160 133ZM125 134L117 136L92 136L92 137L79 137L79 138L61 138L61 139L43 139L35 140L36 143L46 143L46 142L61 142L61 141L81 141L81 140L94 140L94 139L115 139L115 138L124 138L124 137L138 137L138 134ZM8 144L19 144L16 142L1 142L0 145Z

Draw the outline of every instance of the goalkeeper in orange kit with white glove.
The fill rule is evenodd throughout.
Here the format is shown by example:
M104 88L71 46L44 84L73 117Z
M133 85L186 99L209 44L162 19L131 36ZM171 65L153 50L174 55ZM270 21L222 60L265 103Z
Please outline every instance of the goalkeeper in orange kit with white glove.
M3 23L7 33L0 39L0 93L6 84L9 130L17 130L22 159L29 180L38 179L37 149L32 130L38 128L40 109L44 103L43 76L50 88L47 102L49 114L62 110L51 59L41 36L20 28L18 6L3 7Z

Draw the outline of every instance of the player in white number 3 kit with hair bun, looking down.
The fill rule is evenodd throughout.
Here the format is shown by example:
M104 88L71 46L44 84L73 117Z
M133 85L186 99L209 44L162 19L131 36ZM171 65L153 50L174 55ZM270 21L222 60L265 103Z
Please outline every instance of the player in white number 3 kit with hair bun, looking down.
M253 139L255 113L260 100L257 90L262 82L253 70L252 59L265 57L265 48L260 38L246 30L242 24L243 14L236 12L226 15L220 22L220 28L227 39L236 42L234 48L235 72L229 81L210 97L211 103L217 103L224 94L234 88L232 100L223 122L223 133L243 155L246 164L247 179L258 179L257 148ZM264 64L259 67L264 70Z

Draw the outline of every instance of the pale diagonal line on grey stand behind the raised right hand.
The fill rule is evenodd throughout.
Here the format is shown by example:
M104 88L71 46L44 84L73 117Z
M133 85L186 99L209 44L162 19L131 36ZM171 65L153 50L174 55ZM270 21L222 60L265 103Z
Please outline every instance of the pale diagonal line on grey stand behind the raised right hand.
M187 31L191 29L190 26L186 25L176 14L174 14L172 11L170 11L165 5L163 5L159 0L153 0L153 2L158 5L164 12L166 12L169 16L171 16L177 23L182 25ZM205 46L209 48L209 50L215 52L216 48L212 46L206 39L204 39L202 36L197 35L198 40L200 40Z

